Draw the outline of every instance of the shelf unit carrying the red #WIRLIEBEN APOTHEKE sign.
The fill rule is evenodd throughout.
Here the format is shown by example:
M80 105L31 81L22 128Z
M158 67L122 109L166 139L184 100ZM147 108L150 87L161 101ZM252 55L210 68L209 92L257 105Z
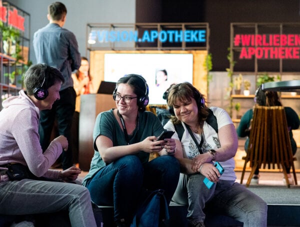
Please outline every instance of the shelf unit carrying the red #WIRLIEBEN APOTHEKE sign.
M298 45L294 43L296 39L284 40L288 35L298 37L298 34L300 34L300 23L230 24L229 70L232 72L230 81L233 82L234 77L242 74L243 79L251 82L250 95L248 96L235 94L232 90L230 115L233 122L239 122L239 119L235 117L234 103L240 102L241 115L253 106L256 81L260 75L268 74L273 76L275 80L277 80L277 76L279 80L300 79L300 64L298 64L300 53L279 54L281 50L292 49L295 53L299 51L297 50ZM272 38L274 39L272 40ZM255 52L251 52L250 49L255 50ZM277 51L277 55L271 54L270 51L267 51L268 49L272 49L273 53ZM262 52L263 54L261 54ZM280 93L282 104L292 107L298 113L300 113L300 106L294 100L299 98L300 95L297 93Z

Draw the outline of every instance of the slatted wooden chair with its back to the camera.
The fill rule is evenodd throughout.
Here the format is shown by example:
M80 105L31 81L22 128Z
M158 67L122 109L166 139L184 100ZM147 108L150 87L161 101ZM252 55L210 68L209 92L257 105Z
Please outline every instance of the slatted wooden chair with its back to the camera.
M281 166L286 185L289 187L284 163L286 166L291 166L294 181L297 184L293 163L296 158L292 155L283 106L257 105L254 107L247 155L243 159L245 162L240 183L242 183L247 162L250 162L251 167L246 186L249 186L257 166L268 169L280 169Z

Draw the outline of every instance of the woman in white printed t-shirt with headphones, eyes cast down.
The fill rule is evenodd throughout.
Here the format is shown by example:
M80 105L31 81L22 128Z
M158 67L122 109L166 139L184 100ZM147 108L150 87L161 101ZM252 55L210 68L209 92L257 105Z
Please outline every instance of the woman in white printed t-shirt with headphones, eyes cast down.
M233 156L237 136L227 112L206 107L203 94L188 82L170 88L167 104L174 115L164 128L175 130L175 124L184 128L181 143L176 132L172 136L176 141L174 156L181 167L172 201L188 205L189 226L204 226L204 207L207 212L239 220L244 226L266 226L266 203L235 182ZM211 111L216 117L218 132L205 121ZM214 161L224 168L222 175L214 167ZM203 183L205 177L214 182L210 189Z

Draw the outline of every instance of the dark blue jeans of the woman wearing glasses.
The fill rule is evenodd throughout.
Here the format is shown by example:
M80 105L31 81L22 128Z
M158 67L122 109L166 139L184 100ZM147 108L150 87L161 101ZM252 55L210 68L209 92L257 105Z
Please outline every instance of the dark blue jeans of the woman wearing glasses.
M163 189L169 203L179 178L179 162L163 155L144 164L135 155L123 156L101 168L88 182L91 200L113 205L114 220L131 221L143 189Z

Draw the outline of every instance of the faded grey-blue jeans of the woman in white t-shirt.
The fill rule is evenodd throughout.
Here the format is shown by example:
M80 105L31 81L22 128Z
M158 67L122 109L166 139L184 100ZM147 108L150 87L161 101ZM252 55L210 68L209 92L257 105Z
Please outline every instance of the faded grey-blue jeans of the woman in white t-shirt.
M180 173L172 201L188 205L188 222L204 221L207 211L233 217L243 226L266 226L267 205L258 195L231 180L219 180L208 189L204 178L200 173Z

